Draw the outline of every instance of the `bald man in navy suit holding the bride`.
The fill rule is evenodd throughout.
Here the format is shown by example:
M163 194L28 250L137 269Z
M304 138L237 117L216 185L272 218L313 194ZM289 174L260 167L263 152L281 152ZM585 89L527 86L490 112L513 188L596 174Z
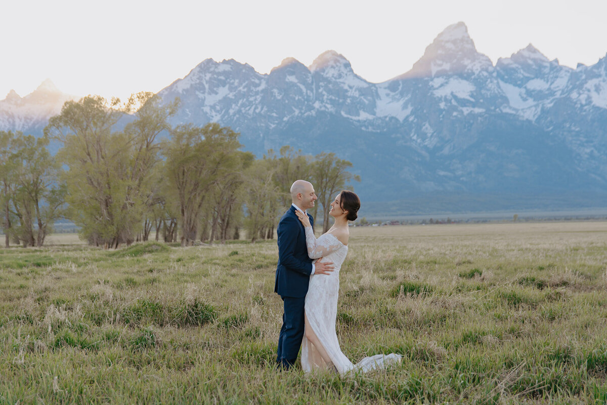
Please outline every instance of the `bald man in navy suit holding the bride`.
M280 295L284 304L276 362L285 370L295 364L304 338L304 304L310 275L329 274L333 271L332 262L321 263L319 259L312 264L305 243L304 225L295 214L297 209L306 213L314 226L312 216L306 211L312 208L316 201L312 183L296 180L291 186L291 199L293 204L280 219L276 230L278 267L274 285L274 292Z

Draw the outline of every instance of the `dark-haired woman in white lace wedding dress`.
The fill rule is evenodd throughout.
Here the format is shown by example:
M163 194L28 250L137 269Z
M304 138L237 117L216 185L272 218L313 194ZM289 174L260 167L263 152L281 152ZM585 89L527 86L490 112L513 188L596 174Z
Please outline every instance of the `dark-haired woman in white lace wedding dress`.
M307 215L296 211L305 227L308 256L311 259L331 261L335 271L328 275L310 276L310 287L305 296L305 334L302 341L302 368L305 372L314 370L335 370L340 374L348 372L368 372L399 362L401 355L375 355L365 357L353 364L339 349L335 332L337 316L337 296L339 294L339 269L348 254L348 220L355 220L361 202L354 192L344 190L331 203L329 214L335 223L327 233L318 239Z

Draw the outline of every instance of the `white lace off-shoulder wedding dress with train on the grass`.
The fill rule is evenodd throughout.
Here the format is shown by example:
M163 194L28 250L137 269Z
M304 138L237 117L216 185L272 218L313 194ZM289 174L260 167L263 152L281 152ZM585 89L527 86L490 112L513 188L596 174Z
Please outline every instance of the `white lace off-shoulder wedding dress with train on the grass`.
M310 276L310 287L305 296L305 315L308 324L319 339L333 364L324 361L314 344L306 338L302 341L302 368L305 372L332 369L340 374L349 372L368 372L381 369L401 360L401 355L375 355L365 357L353 364L339 349L335 332L337 316L337 296L339 295L339 269L348 254L348 247L336 236L325 233L318 239L310 226L305 228L308 256L311 259L323 257L322 261L333 262L335 270L330 274ZM306 326L308 327L308 326Z

